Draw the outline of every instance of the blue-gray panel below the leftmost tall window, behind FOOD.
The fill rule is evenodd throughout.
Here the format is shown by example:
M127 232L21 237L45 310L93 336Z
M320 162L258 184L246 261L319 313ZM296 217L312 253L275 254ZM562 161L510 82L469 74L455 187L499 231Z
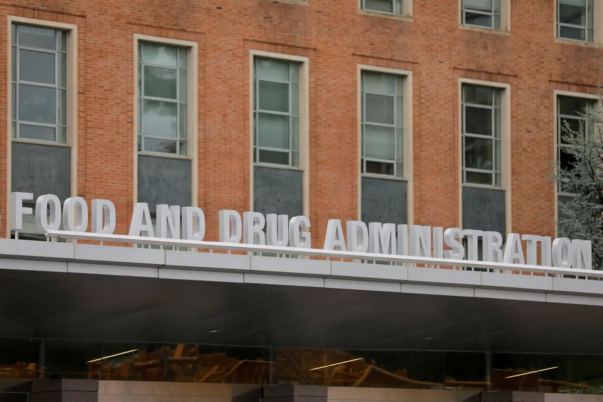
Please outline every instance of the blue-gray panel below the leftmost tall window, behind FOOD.
M13 142L11 163L11 191L71 196L71 148Z

